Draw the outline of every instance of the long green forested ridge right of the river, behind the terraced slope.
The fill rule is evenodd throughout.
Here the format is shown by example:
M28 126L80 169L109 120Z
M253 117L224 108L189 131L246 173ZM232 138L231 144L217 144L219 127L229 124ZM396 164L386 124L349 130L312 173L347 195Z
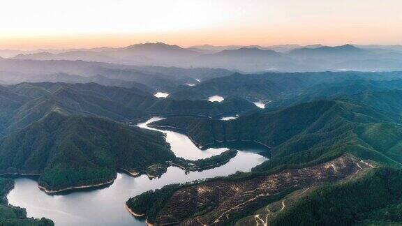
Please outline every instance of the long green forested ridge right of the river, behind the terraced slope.
M298 164L344 152L399 165L402 131L398 114L341 100L320 100L277 112L255 113L230 121L173 117L152 123L184 131L198 146L253 141L271 148L260 167Z

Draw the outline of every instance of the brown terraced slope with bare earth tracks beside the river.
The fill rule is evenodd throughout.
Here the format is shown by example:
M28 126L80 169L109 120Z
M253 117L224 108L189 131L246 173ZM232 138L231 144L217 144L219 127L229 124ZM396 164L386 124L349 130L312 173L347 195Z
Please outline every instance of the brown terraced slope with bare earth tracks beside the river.
M142 199L147 199L147 195L129 199L127 205L135 213L149 215L148 222L155 225L228 225L295 190L349 180L371 167L353 156L343 155L327 163L285 169L277 174L251 176L239 181L216 179L184 186L168 199L161 195L166 201L161 209L152 210L156 215L149 215L148 209L137 206L144 202ZM154 194L154 199L158 199L158 193Z

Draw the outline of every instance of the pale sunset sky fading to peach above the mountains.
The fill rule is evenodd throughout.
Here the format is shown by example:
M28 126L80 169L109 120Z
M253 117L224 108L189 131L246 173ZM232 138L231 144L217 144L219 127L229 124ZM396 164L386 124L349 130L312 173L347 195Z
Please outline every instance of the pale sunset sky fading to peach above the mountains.
M401 0L2 0L0 49L402 44Z

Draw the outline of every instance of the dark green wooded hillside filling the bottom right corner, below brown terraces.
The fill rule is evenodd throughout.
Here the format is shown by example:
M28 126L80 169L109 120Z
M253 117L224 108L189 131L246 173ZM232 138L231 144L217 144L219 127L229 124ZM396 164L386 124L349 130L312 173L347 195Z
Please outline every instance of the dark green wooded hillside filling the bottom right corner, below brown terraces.
M380 168L357 181L318 188L278 213L269 225L399 225L401 174Z

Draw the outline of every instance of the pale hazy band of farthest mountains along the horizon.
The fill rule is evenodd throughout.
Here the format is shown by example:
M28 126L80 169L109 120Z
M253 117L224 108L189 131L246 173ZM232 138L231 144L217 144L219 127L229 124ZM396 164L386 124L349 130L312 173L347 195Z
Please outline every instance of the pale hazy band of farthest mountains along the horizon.
M3 52L3 54L1 54ZM13 55L13 57L10 57ZM0 56L31 60L82 60L126 65L208 67L256 72L318 70L400 70L402 48L399 45L277 45L211 46L189 48L164 43L144 43L128 47L101 47L82 50L50 50Z

